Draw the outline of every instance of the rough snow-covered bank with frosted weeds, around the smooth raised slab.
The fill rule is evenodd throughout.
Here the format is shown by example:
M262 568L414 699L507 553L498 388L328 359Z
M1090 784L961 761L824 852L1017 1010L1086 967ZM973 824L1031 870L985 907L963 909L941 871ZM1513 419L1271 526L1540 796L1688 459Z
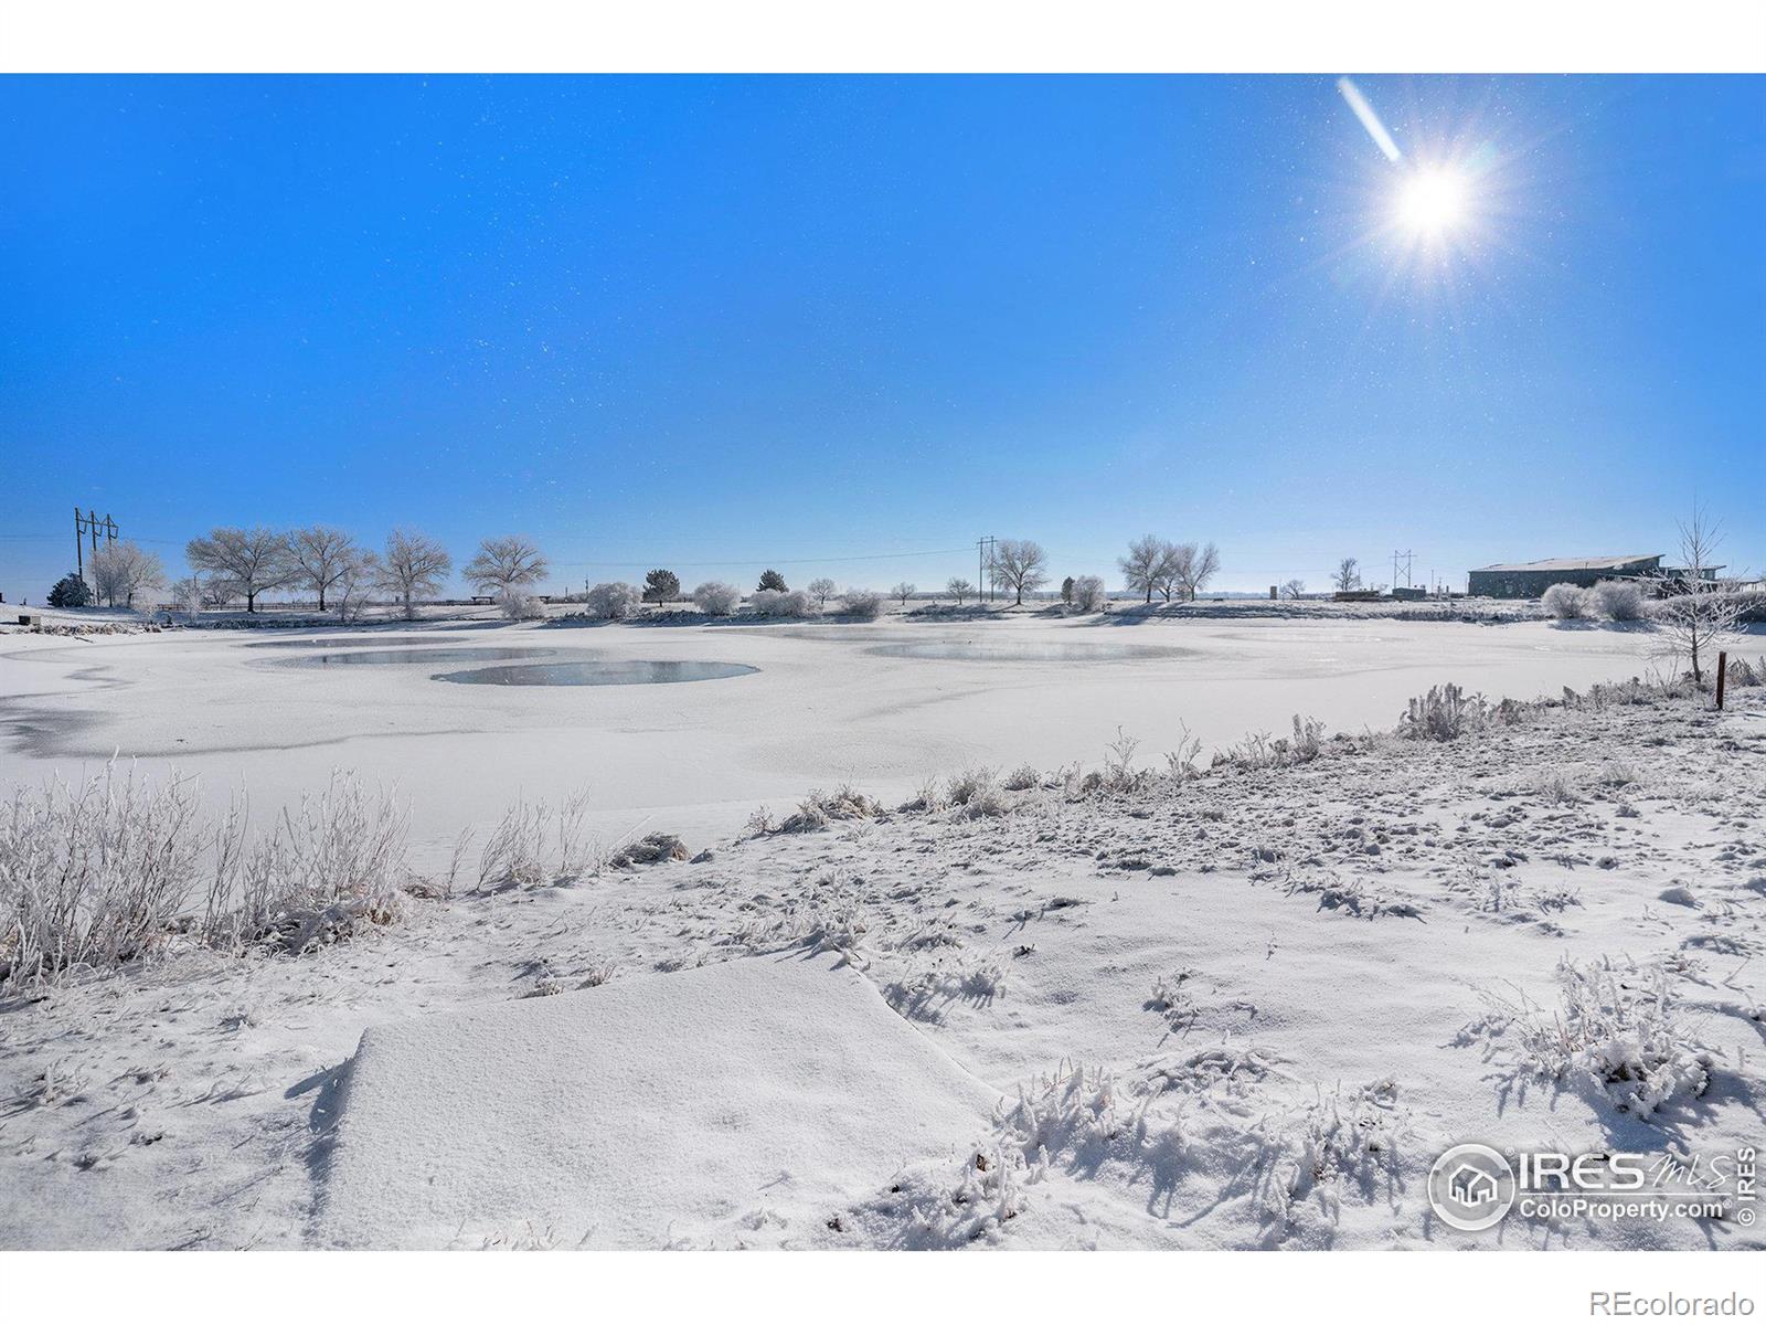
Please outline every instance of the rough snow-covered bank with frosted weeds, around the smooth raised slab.
M1695 1219L1512 1217L1468 1238L1423 1192L1434 1157L1466 1140L1704 1155L1757 1143L1766 693L1731 705L1584 693L1446 742L1388 731L1316 753L1247 747L1185 777L1132 776L1150 761L1130 760L1097 779L996 779L982 806L996 813L943 807L940 784L931 807L749 836L692 864L413 897L401 924L307 958L173 949L0 1011L0 1246L350 1240L327 1226L327 1150L351 1134L336 1086L364 1030L420 1014L516 1026L533 1005L570 1021L622 986L638 1003L639 982L721 963L763 979L819 954L902 1025L883 1032L874 1005L860 1014L826 986L784 991L770 1025L835 1026L804 1060L876 1041L895 1062L906 1028L998 1108L955 1154L940 1124L925 1154L800 1177L789 1203L735 1162L721 1201L669 1175L698 1203L683 1240L1759 1249L1755 1228ZM555 991L570 1002L507 1007ZM733 1101L756 1099L768 1081L731 1064L770 1032L731 1018L705 1019L705 1062ZM496 1037L450 1041L449 1025L389 1032L427 1048L401 1060L422 1069L383 1079L408 1072L415 1090L431 1072L442 1090L452 1064L494 1108L482 1067ZM560 1042L593 1025L560 1026ZM678 1055L657 1062L676 1071ZM366 1150L406 1143L399 1090L362 1106ZM671 1117L710 1145L698 1104ZM622 1118L618 1134L652 1125L669 1122ZM449 1141L445 1125L417 1131ZM364 1171L380 1162L364 1155ZM472 1162L436 1161L456 1175ZM348 1182L358 1237L436 1237L440 1208L401 1224L403 1205L374 1210L369 1184ZM466 1237L546 1246L652 1226L652 1210L613 1212L597 1192L546 1177L475 1207L466 1184L449 1214ZM521 1207L544 1226L510 1226Z

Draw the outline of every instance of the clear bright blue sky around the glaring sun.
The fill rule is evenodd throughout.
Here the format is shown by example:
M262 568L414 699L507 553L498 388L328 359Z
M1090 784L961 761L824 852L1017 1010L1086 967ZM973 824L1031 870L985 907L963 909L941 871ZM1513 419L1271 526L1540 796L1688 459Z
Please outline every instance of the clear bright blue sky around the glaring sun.
M1766 567L1766 80L1358 85L1400 163L1324 76L0 80L0 590L74 504L173 571L334 523L1116 583L1158 532L1323 588L1697 498Z

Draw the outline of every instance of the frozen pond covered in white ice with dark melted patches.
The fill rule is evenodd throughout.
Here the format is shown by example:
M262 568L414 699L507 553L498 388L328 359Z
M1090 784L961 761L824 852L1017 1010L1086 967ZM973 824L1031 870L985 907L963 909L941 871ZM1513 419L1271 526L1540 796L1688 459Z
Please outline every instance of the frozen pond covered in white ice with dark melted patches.
M812 786L849 781L895 804L982 763L1095 767L1118 726L1150 765L1189 737L1217 749L1287 731L1294 714L1390 730L1430 685L1556 694L1639 675L1651 647L1545 622L1388 620L1150 622L1132 638L1042 620L314 634L9 636L0 797L120 753L143 774L200 776L221 813L242 784L275 807L353 768L397 783L413 841L443 855L463 827L489 832L517 788L590 786L608 834L653 818L706 836ZM327 655L348 657L307 662ZM668 684L713 677L731 684Z

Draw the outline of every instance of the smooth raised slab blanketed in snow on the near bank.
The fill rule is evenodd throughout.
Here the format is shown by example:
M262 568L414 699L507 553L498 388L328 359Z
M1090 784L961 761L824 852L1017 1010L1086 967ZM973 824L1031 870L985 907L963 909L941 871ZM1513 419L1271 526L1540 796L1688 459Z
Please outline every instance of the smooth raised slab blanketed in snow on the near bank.
M344 1247L789 1244L998 1092L830 958L749 959L374 1028L318 1207Z

